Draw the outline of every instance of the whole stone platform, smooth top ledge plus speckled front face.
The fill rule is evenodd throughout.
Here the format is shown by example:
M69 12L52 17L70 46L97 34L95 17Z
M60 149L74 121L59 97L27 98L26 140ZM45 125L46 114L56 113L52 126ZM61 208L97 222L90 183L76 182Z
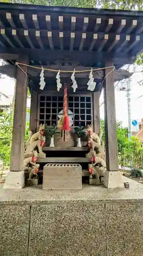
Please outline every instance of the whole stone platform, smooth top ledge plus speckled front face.
M2 256L142 256L143 184L0 189Z

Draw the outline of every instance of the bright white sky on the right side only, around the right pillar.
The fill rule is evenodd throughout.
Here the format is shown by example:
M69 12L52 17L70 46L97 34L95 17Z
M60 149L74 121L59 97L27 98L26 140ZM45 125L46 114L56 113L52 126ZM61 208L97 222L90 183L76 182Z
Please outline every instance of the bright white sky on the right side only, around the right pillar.
M127 69L125 66L124 69ZM131 120L141 121L143 118L142 102L143 102L143 86L139 86L138 81L143 80L143 75L140 72L143 67L136 67L135 73L131 77L130 81L130 95L131 95ZM130 66L130 72L133 71L133 65ZM121 81L118 84L118 88L126 86L126 81ZM128 126L128 105L127 105L127 92L119 91L115 89L115 100L116 100L116 119L123 122L123 126ZM142 95L142 97L140 97ZM138 98L140 97L140 98ZM103 91L100 96L100 104L103 102ZM104 119L104 105L100 106L100 117Z

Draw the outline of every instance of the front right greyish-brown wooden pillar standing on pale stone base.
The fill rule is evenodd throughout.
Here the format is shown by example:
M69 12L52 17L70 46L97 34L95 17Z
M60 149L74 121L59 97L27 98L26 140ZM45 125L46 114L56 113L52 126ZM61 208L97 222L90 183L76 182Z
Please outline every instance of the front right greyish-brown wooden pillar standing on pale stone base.
M113 66L112 62L106 62L105 67ZM118 144L115 109L115 88L112 68L105 69L104 80L104 112L105 112L105 148L106 166L109 171L117 171L118 165ZM110 73L109 73L110 72Z

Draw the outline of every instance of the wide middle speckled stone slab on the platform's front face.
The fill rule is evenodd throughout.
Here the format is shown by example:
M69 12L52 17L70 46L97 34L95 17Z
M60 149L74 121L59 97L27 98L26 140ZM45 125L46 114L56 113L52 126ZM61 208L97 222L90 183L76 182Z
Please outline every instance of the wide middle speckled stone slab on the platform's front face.
M32 206L30 256L105 256L104 204Z

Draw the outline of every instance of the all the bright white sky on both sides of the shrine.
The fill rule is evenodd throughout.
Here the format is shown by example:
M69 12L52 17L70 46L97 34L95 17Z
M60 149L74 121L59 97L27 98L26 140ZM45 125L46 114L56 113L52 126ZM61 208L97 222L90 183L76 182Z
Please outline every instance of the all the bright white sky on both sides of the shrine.
M127 66L124 67L127 69ZM133 66L130 66L130 72L132 72ZM135 73L131 77L131 120L140 121L143 118L142 113L142 102L143 102L143 86L139 86L138 81L143 79L143 75L140 72L143 67L137 67ZM128 126L128 107L127 107L127 97L125 91L119 91L118 88L126 86L126 81L118 83L118 87L115 89L115 99L116 99L116 119L123 122L123 126ZM14 95L15 81L10 77L2 75L0 82L0 91L6 95ZM140 98L138 98L140 97ZM103 102L103 92L100 96L100 104ZM27 106L30 106L30 100L27 101ZM100 117L104 119L104 104L100 107Z

